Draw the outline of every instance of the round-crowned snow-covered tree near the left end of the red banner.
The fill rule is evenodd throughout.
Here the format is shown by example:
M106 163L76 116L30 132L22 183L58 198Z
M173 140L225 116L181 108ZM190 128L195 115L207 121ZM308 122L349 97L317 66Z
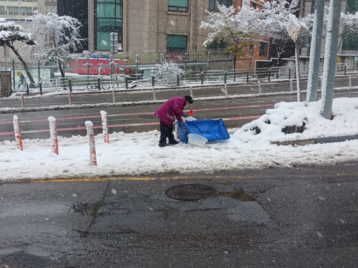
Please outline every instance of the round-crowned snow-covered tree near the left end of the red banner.
M75 61L78 54L71 53L81 49L82 45L79 28L82 24L69 16L58 16L54 13L42 15L34 12L31 32L36 36L38 43L31 46L33 57L42 65L54 62L58 65L61 76L65 77L65 67L69 61Z

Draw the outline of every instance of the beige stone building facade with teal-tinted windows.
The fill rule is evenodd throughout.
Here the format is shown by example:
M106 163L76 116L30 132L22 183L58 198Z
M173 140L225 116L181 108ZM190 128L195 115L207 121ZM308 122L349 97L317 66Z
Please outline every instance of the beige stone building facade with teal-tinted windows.
M89 50L109 51L110 32L121 51L205 49L205 9L217 0L89 0ZM231 5L232 0L219 0Z

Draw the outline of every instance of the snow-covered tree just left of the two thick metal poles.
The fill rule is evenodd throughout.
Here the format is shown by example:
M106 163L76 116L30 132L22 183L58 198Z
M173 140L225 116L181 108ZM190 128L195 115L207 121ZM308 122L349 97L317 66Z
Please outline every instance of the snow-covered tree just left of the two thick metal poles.
M291 37L287 32L287 23L290 15L295 15L300 9L300 0L286 0L267 1L263 4L262 22L266 25L266 36L270 38L270 42L275 42L277 45L278 62L281 59L282 53L285 52ZM312 24L313 15L308 15L305 18L297 19L301 26L300 37L309 34L309 27Z

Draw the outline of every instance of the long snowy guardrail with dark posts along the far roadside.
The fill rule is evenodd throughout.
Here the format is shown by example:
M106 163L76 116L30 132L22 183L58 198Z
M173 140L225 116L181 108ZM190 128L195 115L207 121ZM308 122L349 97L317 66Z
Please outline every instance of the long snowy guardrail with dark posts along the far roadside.
M106 67L106 66L104 66ZM302 68L300 78L308 77L308 68ZM323 65L320 66L322 73ZM336 76L358 75L358 64L337 64ZM107 91L133 88L173 87L173 86L197 86L211 84L232 84L263 81L290 80L296 78L295 67L271 67L260 68L253 72L248 70L212 70L191 71L176 75L175 73L161 73L143 78L143 74L113 74L113 75L74 75L71 77L58 77L41 79L40 94L43 92L69 91ZM26 91L26 86L14 91ZM38 89L29 89L29 92L38 92Z

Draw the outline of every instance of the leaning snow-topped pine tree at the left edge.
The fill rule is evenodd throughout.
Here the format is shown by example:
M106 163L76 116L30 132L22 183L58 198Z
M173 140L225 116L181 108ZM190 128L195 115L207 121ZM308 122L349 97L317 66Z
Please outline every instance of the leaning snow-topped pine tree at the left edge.
M35 82L32 78L31 73L28 71L27 64L25 60L20 55L18 49L15 49L13 43L20 41L26 45L34 45L35 42L32 39L32 33L24 31L24 28L21 25L15 24L14 22L0 23L0 47L10 48L15 55L18 57L22 65L24 66L27 77L30 80L32 85L35 85Z

